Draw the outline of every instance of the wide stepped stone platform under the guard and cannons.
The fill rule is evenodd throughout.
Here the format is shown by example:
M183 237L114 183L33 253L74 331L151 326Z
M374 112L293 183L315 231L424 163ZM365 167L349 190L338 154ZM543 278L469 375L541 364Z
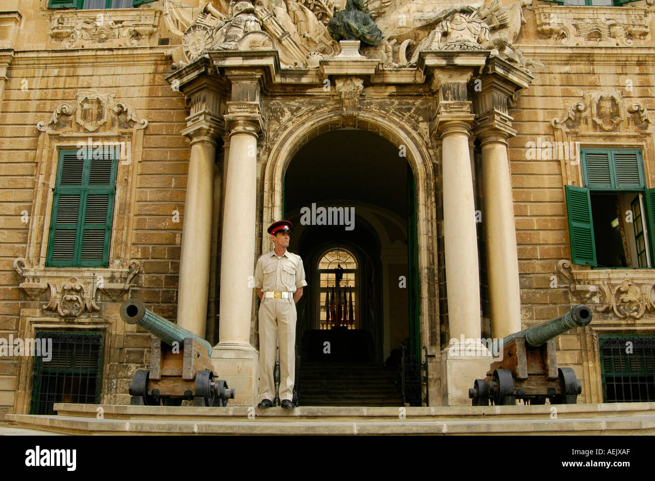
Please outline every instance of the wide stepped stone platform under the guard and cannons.
M98 419L102 408L102 419ZM551 410L557 408L557 417ZM655 402L431 408L192 408L54 404L8 428L61 434L655 434ZM404 414L405 418L402 419ZM36 434L36 433L35 433Z

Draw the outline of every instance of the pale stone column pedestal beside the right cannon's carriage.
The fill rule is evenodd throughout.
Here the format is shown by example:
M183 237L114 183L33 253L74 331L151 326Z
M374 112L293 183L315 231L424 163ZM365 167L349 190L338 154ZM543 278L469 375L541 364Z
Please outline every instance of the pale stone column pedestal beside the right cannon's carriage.
M442 406L471 406L468 389L483 379L493 356L482 344L451 345L441 351Z

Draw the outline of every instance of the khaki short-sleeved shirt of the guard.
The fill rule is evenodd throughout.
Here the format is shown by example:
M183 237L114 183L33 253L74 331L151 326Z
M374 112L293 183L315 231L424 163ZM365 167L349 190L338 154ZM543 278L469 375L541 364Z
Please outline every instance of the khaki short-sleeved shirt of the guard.
M295 292L307 286L305 269L300 256L288 250L278 259L274 250L263 254L255 268L255 287L263 292Z

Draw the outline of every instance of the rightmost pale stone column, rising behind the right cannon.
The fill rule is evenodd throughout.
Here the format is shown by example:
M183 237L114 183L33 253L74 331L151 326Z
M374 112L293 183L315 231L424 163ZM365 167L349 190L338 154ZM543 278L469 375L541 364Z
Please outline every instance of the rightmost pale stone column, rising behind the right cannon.
M507 134L479 134L482 149L483 226L493 337L521 330L521 292Z

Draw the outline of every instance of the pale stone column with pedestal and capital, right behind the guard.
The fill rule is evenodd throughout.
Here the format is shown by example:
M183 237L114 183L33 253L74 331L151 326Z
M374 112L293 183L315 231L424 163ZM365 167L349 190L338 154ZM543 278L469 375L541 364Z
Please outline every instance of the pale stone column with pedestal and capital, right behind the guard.
M227 69L232 84L225 123L229 154L221 236L219 342L212 362L236 390L232 404L252 406L259 391L259 356L250 344L255 267L257 140L261 130L257 71Z

